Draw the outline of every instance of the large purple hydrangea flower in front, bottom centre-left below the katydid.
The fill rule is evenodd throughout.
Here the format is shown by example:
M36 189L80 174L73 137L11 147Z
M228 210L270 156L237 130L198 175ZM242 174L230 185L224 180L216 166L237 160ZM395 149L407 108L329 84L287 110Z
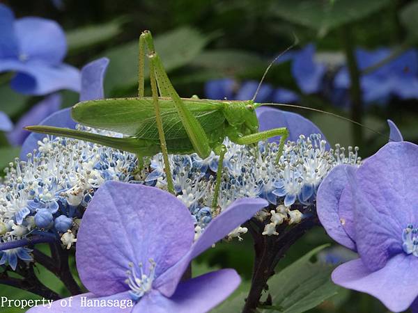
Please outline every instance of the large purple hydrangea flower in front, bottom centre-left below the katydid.
M238 287L231 269L180 282L189 262L262 209L261 199L237 200L194 241L194 222L173 195L139 184L107 182L88 204L77 240L80 278L91 291L70 308L52 312L98 312L81 298L129 300L125 312L208 312ZM109 214L111 212L111 214ZM41 312L35 307L29 312ZM100 307L100 312L114 312Z

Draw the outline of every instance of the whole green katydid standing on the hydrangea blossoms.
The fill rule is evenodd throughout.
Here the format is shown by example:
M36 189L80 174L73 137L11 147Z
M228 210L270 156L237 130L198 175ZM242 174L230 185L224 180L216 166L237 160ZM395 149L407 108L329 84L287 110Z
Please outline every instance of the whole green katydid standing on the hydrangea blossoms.
M148 54L145 55L145 51ZM153 97L144 97L144 58L150 65L150 83ZM274 136L281 136L279 152L288 136L286 128L258 132L255 109L261 104L254 101L217 101L180 98L171 85L162 61L155 53L150 32L139 38L139 97L102 99L80 102L72 108L72 118L81 125L115 131L122 138L91 134L75 129L32 126L30 131L66 136L91 141L142 157L162 152L169 191L173 193L168 154L196 152L206 158L212 151L222 161L226 148L222 145L229 137L234 143L250 145ZM222 166L219 166L222 170ZM220 179L215 186L216 207Z

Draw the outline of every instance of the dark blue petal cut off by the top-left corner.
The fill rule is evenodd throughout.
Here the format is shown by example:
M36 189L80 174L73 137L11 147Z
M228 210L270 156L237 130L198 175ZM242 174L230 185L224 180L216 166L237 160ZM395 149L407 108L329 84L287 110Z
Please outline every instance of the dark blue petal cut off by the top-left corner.
M18 54L15 33L15 15L0 3L0 58L16 58Z

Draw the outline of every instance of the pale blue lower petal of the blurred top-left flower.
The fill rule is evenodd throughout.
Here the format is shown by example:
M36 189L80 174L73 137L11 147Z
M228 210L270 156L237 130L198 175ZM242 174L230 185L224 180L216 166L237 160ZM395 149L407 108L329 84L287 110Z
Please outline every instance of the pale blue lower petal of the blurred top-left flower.
M8 62L8 64L10 63ZM0 70L2 65L0 65ZM78 93L81 88L80 72L70 65L53 66L29 61L15 68L9 67L9 70L18 72L11 81L12 88L18 93L45 95L61 89L73 90Z

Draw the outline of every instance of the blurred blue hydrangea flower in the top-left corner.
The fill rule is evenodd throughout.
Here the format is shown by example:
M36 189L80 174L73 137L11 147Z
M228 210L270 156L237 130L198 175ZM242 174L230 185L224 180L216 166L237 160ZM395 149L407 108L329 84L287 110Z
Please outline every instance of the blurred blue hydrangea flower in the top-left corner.
M63 63L65 33L56 22L40 17L15 19L0 4L0 72L16 72L11 86L19 93L45 95L80 90L80 74Z

